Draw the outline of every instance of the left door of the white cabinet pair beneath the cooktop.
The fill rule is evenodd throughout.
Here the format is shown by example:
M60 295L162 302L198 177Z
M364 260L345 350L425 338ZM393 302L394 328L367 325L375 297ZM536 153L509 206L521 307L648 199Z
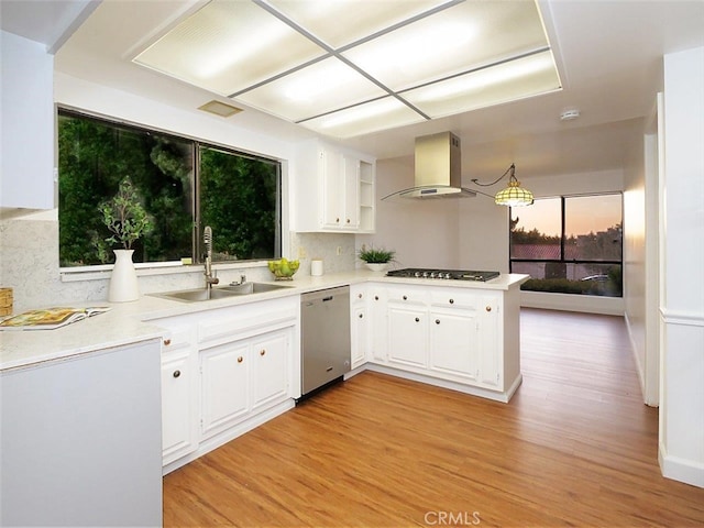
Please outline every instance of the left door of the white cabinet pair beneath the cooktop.
M388 304L388 361L407 366L428 365L427 310Z

